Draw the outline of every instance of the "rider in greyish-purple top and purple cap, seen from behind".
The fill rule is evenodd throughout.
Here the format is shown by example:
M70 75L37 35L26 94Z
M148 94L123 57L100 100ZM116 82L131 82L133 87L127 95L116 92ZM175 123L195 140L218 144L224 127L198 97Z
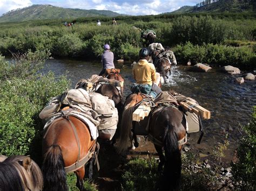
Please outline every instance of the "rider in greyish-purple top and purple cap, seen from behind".
M106 69L114 68L114 54L110 51L110 46L108 44L104 45L104 52L102 54L102 72L99 76L105 74Z

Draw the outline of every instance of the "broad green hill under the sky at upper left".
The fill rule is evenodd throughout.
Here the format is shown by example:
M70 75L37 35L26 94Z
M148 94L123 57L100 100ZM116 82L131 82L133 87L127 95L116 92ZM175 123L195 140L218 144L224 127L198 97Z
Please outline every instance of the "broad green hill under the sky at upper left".
M0 22L22 22L39 19L68 19L78 17L109 16L116 17L119 13L107 10L64 9L52 5L32 5L28 8L9 11L0 17Z

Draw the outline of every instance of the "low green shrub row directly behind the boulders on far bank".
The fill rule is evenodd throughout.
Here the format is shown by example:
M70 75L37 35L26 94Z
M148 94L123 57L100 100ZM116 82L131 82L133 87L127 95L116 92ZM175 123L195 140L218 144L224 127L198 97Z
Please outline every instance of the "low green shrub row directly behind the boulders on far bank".
M173 49L179 62L192 63L202 62L210 65L232 65L244 69L255 67L256 54L252 48L247 46L232 47L225 45L203 44L192 45L190 42L185 45L178 45Z

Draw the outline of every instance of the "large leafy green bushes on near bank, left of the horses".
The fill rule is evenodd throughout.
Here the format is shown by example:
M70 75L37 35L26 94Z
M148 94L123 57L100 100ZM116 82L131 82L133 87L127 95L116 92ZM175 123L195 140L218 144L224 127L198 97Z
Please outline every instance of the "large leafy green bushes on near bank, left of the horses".
M51 97L70 86L65 76L57 79L53 73L38 73L48 56L45 51L28 52L13 62L0 56L1 154L28 154L42 130L39 112Z

